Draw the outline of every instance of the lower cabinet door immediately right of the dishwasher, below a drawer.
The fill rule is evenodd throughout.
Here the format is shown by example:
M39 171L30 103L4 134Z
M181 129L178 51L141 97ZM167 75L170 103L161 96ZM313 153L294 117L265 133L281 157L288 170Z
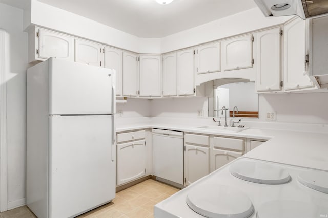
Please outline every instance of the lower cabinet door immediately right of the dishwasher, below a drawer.
M210 173L210 148L185 145L185 186Z

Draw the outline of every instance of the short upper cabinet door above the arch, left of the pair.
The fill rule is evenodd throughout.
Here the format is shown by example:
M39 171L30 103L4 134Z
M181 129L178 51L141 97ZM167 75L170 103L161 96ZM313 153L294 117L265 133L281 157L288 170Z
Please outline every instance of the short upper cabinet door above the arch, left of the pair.
M221 42L215 42L196 48L196 73L221 71Z

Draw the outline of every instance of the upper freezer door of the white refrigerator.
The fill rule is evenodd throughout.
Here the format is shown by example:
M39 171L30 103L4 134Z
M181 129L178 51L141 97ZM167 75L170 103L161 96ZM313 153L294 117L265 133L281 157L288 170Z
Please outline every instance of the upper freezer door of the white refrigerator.
M49 59L49 114L112 114L112 70Z

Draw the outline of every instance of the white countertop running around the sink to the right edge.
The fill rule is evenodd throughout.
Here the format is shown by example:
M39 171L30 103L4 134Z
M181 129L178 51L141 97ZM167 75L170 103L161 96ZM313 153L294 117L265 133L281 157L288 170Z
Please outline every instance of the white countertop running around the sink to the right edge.
M244 123L249 129L224 132L197 128L214 122L172 122L170 119L148 119L117 125L116 132L136 129L160 128L188 133L230 137L265 139L267 142L249 151L243 157L309 167L328 171L328 126L325 124ZM292 130L291 130L292 129Z

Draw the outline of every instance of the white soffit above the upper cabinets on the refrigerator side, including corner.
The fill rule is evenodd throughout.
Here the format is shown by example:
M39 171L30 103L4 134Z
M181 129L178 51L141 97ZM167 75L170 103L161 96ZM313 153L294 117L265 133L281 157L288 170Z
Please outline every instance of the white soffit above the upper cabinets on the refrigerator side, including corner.
M25 10L24 28L33 24L138 53L160 52L160 39L139 38L36 0L30 7Z

